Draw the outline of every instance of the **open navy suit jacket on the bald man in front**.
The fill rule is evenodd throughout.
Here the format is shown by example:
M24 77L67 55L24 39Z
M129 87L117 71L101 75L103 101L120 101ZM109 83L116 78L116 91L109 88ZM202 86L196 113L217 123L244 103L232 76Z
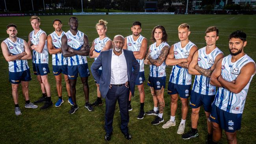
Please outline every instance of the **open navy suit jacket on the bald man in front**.
M135 88L135 79L137 74L139 73L139 63L135 59L132 51L123 50L124 57L126 59L127 65L127 74L129 87L132 92L132 96L134 95ZM98 58L91 65L91 73L95 78L96 82L100 85L100 93L102 98L105 98L110 85L111 80L111 58L112 58L112 49L100 52ZM101 76L98 74L98 68L102 66L102 74ZM134 70L134 71L132 71Z

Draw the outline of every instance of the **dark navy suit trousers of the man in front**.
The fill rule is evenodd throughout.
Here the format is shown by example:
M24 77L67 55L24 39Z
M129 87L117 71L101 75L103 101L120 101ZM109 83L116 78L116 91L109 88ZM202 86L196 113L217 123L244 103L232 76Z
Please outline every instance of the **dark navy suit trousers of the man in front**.
M121 131L122 133L128 133L129 101L130 88L122 85L117 87L112 85L106 95L106 113L105 113L105 130L106 133L112 133L113 131L113 117L115 113L115 105L118 101L120 114L121 114Z

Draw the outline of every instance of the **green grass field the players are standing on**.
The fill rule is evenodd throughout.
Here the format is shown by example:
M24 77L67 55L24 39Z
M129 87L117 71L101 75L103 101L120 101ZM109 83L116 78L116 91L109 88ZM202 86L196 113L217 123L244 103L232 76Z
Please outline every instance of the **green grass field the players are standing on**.
M68 20L70 16L41 16L41 29L47 34L52 33L52 20L59 18L63 22L63 30L68 31ZM228 51L228 35L236 30L243 30L247 33L247 46L245 53L252 59L256 60L256 16L254 15L89 15L77 16L79 19L79 30L88 35L89 41L92 42L98 37L95 24L99 19L104 19L109 22L107 35L109 38L117 34L123 36L131 35L130 27L134 21L142 23L142 35L147 39L151 37L151 31L156 25L163 25L168 33L168 43L174 44L178 42L177 28L182 23L188 23L191 26L190 41L194 42L198 48L204 47L204 32L209 26L217 26L219 28L219 41L217 46L224 52ZM17 24L18 37L28 41L28 34L32 31L29 22L29 17L0 17L0 41L4 41L8 35L6 34L6 25L9 23ZM91 43L90 43L91 44ZM148 46L151 44L148 41ZM52 57L49 57L49 68L51 73L48 75L51 84L52 101L55 103L58 100L55 79L52 74ZM87 58L89 66L93 63L93 59ZM29 61L30 71L32 72L32 61ZM149 68L145 66L145 76L148 78ZM167 66L167 79L171 72L171 67ZM95 107L95 111L89 112L84 106L84 96L82 83L78 81L76 85L76 98L79 109L74 114L68 114L70 109L67 103L67 92L63 88L63 100L65 102L61 107L51 107L48 110L41 111L38 109L24 108L24 98L22 97L21 88L19 90L19 105L22 115L16 116L14 113L14 103L11 95L11 84L8 79L8 63L0 54L0 91L1 91L1 116L0 116L0 143L105 143L104 141L104 111L105 104ZM33 74L33 73L32 73ZM256 97L253 94L256 89L255 77L252 79L250 90L247 95L247 101L242 118L241 130L237 131L238 143L249 144L256 141L256 124L254 123L256 114ZM166 82L168 85L168 81ZM64 80L63 80L64 86ZM96 99L96 85L93 76L89 77L89 102L93 103ZM40 85L36 76L32 75L32 81L29 86L30 100L33 102L41 96ZM145 83L145 111L152 109L153 100L150 94L150 89ZM39 104L42 106L43 104ZM178 101L178 110L176 113L177 125L169 129L163 129L161 126L170 118L170 96L165 90L165 109L163 117L165 121L157 126L153 126L150 122L154 116L146 115L143 120L137 119L139 113L139 94L135 90L135 97L132 98L132 108L130 112L129 131L132 135L132 140L128 141L124 138L120 131L120 114L119 108L116 107L113 135L110 143L187 143L187 144L202 144L205 143L207 137L206 118L203 109L200 111L198 131L199 137L190 140L183 140L181 135L176 134L178 124L181 120L181 103ZM186 121L185 132L191 129L190 120L191 109ZM223 133L220 143L227 143Z

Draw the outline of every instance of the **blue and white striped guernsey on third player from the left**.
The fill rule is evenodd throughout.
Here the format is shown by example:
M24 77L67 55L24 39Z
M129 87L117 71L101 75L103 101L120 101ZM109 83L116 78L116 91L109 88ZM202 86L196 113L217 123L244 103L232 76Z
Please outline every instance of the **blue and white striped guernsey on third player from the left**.
M50 36L52 37L52 45L55 48L61 48L61 37L64 34L64 31L62 31L60 36L58 36L58 34L55 31L50 34ZM67 57L63 57L62 53L53 54L52 65L67 65Z

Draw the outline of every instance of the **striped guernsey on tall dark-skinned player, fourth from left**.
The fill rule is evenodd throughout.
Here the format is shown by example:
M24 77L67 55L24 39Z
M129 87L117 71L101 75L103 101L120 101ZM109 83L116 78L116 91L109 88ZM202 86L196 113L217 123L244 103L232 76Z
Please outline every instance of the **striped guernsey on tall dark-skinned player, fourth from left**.
M67 36L67 44L70 46L70 48L73 48L74 50L80 50L83 46L83 33L81 31L77 31L76 35L73 35L70 31L67 31L65 33ZM68 57L68 65L81 65L87 63L86 56L82 55L74 55L72 57Z

